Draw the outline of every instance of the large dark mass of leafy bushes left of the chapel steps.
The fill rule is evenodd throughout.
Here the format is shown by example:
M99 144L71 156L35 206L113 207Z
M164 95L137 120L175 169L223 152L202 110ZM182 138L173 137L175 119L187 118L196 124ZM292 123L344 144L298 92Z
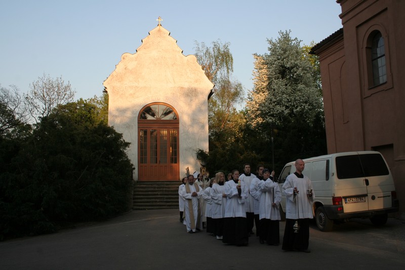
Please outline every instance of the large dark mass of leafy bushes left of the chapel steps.
M59 105L24 141L0 140L0 239L130 209L129 143L98 113L85 100Z

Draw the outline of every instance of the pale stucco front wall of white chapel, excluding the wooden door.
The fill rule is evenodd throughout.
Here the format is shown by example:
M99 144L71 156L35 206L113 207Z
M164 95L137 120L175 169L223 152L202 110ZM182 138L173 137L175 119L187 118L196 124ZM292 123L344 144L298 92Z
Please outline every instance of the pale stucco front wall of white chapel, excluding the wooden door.
M184 56L170 32L157 26L135 54L125 53L104 86L108 124L131 142L128 156L138 180L138 114L147 104L165 102L179 114L180 174L199 170L197 148L208 150L208 95L214 85L195 56Z

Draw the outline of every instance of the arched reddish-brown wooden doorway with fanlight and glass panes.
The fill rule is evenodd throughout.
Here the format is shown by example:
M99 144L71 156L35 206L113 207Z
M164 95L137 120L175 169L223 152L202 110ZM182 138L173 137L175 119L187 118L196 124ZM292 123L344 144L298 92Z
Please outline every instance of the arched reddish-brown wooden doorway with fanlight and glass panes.
M166 103L144 106L138 117L138 179L179 180L179 117Z

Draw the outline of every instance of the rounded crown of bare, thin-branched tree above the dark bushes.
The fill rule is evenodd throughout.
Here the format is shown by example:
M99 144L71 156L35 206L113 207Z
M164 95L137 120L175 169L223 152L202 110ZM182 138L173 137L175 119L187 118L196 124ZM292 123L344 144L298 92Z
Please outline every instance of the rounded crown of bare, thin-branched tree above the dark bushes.
M65 84L62 76L52 79L50 75L38 77L30 84L30 90L24 95L25 105L36 123L48 116L51 111L61 104L72 102L75 91L69 82Z

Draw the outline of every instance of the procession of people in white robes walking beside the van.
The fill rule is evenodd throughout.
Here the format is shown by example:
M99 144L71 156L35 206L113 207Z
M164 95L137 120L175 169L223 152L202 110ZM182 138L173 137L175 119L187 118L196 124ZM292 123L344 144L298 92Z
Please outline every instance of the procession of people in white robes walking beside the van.
M289 175L282 186L287 198L282 249L309 252L309 219L313 217L314 194L311 181L302 174L302 160L297 160L296 168L297 172ZM187 183L179 186L180 221L185 216L183 223L188 233L201 230L204 216L207 233L223 243L248 245L250 234L254 234L255 223L256 235L261 244L279 245L281 190L273 180L274 171L270 172L259 165L256 176L250 173L249 164L244 165L244 171L239 175L238 170L233 170L227 181L225 175L219 172L205 188L194 182L194 176L190 175ZM310 194L307 194L307 190L311 190ZM201 200L205 202L205 211L201 209ZM293 228L296 221L299 221L302 228L299 232Z

